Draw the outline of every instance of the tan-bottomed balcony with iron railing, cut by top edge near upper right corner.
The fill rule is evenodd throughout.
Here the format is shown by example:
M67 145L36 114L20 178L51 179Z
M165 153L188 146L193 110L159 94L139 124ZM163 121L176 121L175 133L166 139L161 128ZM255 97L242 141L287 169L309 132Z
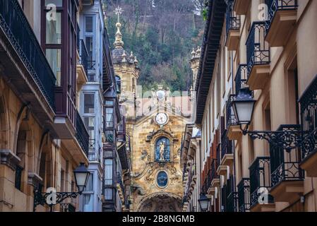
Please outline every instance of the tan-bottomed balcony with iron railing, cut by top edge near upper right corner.
M297 0L265 0L268 20L265 21L265 33L271 47L280 47L287 43L287 37L297 21Z

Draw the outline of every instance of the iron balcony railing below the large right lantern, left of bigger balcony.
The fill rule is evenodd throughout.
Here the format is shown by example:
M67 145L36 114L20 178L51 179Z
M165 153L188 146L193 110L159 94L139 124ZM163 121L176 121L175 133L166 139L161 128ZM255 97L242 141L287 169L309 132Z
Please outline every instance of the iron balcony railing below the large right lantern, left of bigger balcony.
M274 203L274 198L270 195L270 157L257 157L249 170L251 207L258 203Z

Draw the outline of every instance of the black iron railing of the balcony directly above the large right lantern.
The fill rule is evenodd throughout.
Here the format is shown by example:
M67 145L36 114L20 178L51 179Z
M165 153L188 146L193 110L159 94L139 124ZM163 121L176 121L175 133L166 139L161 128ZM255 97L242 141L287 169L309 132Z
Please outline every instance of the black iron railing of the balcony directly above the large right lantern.
M270 46L268 42L265 42L265 22L253 22L246 40L246 59L248 76L253 66L270 64Z

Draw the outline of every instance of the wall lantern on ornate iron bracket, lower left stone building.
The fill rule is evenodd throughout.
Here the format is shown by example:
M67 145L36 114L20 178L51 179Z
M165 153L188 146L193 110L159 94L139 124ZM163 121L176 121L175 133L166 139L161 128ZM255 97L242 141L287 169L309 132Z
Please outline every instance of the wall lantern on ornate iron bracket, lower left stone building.
M80 165L73 171L76 186L78 188L78 192L55 192L52 189L50 192L42 192L41 189L37 188L34 190L34 208L38 205L47 204L51 208L51 212L53 210L53 206L61 203L66 198L76 198L80 196L88 183L88 178L90 172L87 167L85 167L85 163L80 162Z

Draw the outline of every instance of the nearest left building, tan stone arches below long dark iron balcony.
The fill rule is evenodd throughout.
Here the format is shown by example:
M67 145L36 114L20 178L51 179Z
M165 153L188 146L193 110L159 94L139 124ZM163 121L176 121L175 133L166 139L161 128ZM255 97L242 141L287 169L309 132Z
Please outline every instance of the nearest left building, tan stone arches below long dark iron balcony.
M73 169L88 165L77 98L85 81L76 75L78 7L1 1L1 211L48 210L35 191L77 191ZM78 198L68 198L52 210L78 207Z

